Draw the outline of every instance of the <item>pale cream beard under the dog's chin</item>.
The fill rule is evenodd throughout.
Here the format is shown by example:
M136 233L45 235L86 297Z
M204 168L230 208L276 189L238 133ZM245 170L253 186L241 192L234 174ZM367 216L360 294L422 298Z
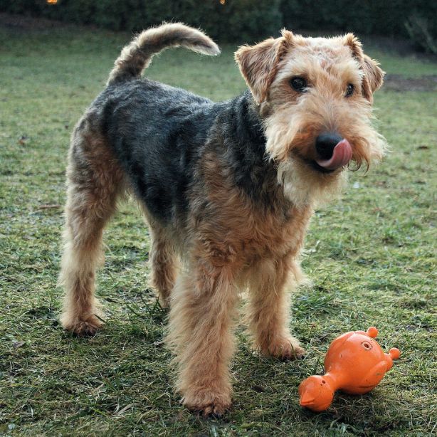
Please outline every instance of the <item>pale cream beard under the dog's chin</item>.
M298 208L315 207L338 196L347 181L344 170L332 175L317 174L295 159L278 164L278 184L284 195Z

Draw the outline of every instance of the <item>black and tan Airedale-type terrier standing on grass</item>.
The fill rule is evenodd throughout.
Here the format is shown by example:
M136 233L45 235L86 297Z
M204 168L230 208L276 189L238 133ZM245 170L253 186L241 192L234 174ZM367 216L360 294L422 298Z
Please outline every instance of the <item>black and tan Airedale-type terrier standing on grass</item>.
M372 127L384 72L349 33L278 38L236 51L248 90L225 102L140 78L154 54L219 47L166 23L137 36L72 135L67 168L61 323L77 335L102 325L94 296L102 230L126 193L152 236L152 281L170 307L167 343L186 407L220 416L231 406L229 362L238 292L260 353L304 349L288 323L288 293L315 205L341 189L348 168L378 162ZM201 73L199 73L201 74Z

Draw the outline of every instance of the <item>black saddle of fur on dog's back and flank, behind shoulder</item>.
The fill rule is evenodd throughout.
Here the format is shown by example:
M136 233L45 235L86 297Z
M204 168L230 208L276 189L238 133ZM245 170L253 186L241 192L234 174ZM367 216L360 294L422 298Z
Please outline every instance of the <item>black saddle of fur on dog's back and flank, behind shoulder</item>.
M214 103L144 79L110 85L95 105L102 107L102 135L137 198L161 221L184 214Z

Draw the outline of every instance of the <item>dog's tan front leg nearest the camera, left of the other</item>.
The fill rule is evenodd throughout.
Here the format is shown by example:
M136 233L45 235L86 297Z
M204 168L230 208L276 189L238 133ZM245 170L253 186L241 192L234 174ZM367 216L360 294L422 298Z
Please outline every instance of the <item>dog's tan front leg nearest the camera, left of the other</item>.
M200 261L179 276L173 293L167 339L176 354L177 391L189 409L221 416L231 406L233 274Z

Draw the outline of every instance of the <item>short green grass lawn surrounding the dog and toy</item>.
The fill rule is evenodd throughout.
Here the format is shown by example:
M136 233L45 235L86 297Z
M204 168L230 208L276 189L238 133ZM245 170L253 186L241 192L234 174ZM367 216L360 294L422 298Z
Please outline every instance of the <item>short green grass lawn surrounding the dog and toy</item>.
M186 411L172 392L167 314L147 288L149 238L122 206L105 234L98 277L106 326L75 338L58 325L56 287L68 138L129 36L0 29L0 435L427 436L436 432L435 93L377 93L392 152L351 174L342 199L317 211L303 266L314 280L293 300L300 362L251 352L243 327L233 407L221 420ZM234 47L219 58L168 51L147 74L215 100L244 88ZM436 63L372 51L389 73L437 74ZM46 207L51 206L51 207ZM401 359L370 394L337 394L325 413L298 405L298 384L322 372L330 341L379 328Z

